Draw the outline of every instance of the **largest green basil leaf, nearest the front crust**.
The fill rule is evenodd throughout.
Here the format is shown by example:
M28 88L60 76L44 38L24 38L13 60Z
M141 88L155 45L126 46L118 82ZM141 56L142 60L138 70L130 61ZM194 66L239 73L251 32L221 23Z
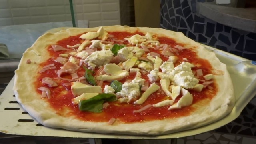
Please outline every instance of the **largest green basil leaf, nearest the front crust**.
M82 100L79 102L79 110L81 111L89 111L89 112L102 112L102 104L107 102L116 101L116 96L114 94L98 94L88 100Z

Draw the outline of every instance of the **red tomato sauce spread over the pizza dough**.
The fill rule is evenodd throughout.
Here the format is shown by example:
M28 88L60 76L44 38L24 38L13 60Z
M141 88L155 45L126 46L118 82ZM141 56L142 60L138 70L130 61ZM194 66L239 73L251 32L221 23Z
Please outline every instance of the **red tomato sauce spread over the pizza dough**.
M126 37L132 36L134 34L140 34L144 35L140 32L136 33L128 33L128 32L109 32L109 34L113 35L114 38L117 40L124 39ZM81 34L77 36L70 36L68 38L65 38L63 40L60 40L56 43L56 45L60 45L64 48L66 48L66 45L73 46L75 44L81 44L82 40L79 38ZM171 47L174 47L178 43L175 42L175 40L172 40L170 38L166 37L158 37L158 41L160 44L168 44ZM127 41L125 41L123 44L128 44ZM183 44L179 44L180 46L183 46ZM151 49L152 52L156 52L158 54L161 53L160 50ZM51 46L48 47L48 52L52 57L58 57L59 54L63 53L63 51L60 52L54 52L51 48ZM168 58L164 57L163 55L160 55L161 59L166 61ZM188 62L193 64L198 64L196 68L192 68L192 70L196 69L202 69L204 74L210 74L212 71L212 67L210 63L207 60L198 58L196 56L196 52L193 52L189 49L183 49L179 50L178 61L176 62L175 66L180 64L183 58L187 58ZM43 62L40 64L40 66L46 66L48 64L54 63L56 66L56 70L60 69L62 64L58 62L54 62L53 58L50 58L46 62ZM58 77L56 74L56 70L47 70L46 72L38 73L39 76L35 83L35 88L39 88L40 86L47 87L46 84L42 84L42 78L44 77L51 77L56 78ZM94 70L97 72L98 69ZM80 68L77 72L78 76L84 76L85 70L83 68ZM62 76L64 78L71 78L70 75ZM134 79L135 74L130 74L123 80L121 80L122 83L124 83L126 80L132 80ZM144 74L142 74L142 78L146 80L146 82L149 82L148 77ZM134 110L138 110L148 104L156 104L158 102L161 102L162 100L169 99L166 94L161 93L161 91L154 92L152 95L148 97L148 99L142 104L142 105L133 105L133 104L127 104L122 103L119 104L119 102L108 102L110 106L103 109L103 112L101 113L93 113L93 112L86 112L86 111L80 111L78 108L78 105L72 104L72 98L74 98L71 90L68 90L66 87L63 86L63 83L67 83L66 80L55 80L55 82L58 83L58 87L55 88L49 88L51 90L51 98L45 99L48 101L51 105L51 107L56 110L56 114L60 114L63 116L76 116L80 120L84 121L94 121L94 122L108 122L110 118L116 118L121 122L129 123L129 122L144 122L149 120L162 120L166 118L177 118L181 116L187 116L191 112L194 111L193 104L196 104L197 102L200 102L204 99L211 99L216 95L217 86L215 83L210 84L214 89L209 90L207 88L204 88L202 92L196 92L194 90L189 90L190 94L193 96L193 104L191 106L187 106L181 109L177 110L167 110L169 106L164 106L161 108L148 108L147 110L144 110L139 113L134 113ZM202 82L200 82L202 83ZM102 85L102 88L104 88L105 84L109 85L109 82L104 82ZM159 82L156 82L160 86ZM37 90L38 94L41 94L40 90ZM175 102L177 102L180 99L181 96L178 96L176 98Z

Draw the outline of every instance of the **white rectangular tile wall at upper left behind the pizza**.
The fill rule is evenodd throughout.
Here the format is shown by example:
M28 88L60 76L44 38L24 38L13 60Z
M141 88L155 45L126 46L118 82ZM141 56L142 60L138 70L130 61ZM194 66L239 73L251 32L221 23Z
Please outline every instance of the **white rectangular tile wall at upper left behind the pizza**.
M89 27L120 24L119 0L73 0ZM0 26L71 21L69 0L0 0Z

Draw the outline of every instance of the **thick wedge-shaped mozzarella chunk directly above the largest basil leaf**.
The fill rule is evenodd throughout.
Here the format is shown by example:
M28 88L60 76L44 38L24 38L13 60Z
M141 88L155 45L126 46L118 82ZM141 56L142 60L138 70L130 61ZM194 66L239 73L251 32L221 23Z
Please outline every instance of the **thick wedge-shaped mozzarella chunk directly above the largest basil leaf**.
M91 86L81 82L72 82L71 84L71 92L74 96L80 96L83 93L102 93L100 86Z

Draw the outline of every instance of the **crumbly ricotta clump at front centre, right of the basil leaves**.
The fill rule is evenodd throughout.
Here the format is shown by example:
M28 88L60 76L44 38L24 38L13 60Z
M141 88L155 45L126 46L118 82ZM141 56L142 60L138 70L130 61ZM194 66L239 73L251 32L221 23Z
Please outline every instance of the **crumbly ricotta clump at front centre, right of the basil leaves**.
M125 82L122 85L122 90L116 94L118 96L122 96L123 98L128 98L128 102L131 100L136 100L137 97L140 96L139 83Z

